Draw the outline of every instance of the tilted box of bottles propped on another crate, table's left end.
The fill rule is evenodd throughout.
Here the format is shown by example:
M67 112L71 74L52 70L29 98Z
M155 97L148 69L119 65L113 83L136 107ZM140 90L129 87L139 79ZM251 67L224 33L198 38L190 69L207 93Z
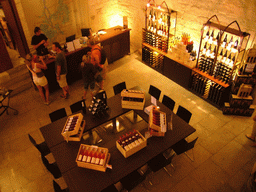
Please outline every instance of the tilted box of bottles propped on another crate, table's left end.
M85 120L81 113L69 116L61 132L63 138L68 141L80 141L85 127Z

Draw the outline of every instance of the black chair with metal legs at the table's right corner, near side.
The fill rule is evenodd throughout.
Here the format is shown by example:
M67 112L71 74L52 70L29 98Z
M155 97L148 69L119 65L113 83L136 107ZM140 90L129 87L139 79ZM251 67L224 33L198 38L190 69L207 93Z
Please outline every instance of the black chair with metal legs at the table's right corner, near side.
M180 155L182 153L185 153L185 155L191 160L194 161L195 160L195 156L194 156L194 151L192 152L193 154L193 158L191 158L186 152L190 149L193 150L196 141L197 141L198 137L196 139L194 139L193 141L191 141L190 143L188 143L185 139L180 140L178 143L174 144L172 146L172 149L175 151L175 153L177 155Z

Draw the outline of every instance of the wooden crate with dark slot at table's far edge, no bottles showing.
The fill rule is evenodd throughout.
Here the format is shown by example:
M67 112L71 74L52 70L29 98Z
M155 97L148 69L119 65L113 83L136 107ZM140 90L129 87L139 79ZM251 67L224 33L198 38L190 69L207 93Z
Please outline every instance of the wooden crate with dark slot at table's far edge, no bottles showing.
M145 104L145 93L137 90L126 90L121 92L122 108L143 110Z

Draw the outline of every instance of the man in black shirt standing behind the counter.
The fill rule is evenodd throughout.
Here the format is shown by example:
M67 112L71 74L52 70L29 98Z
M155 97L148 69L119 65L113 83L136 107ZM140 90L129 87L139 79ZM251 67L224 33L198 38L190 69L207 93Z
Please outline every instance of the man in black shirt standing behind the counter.
M35 27L34 33L35 35L32 37L31 45L33 45L37 55L43 56L49 54L49 51L46 48L48 45L48 38L41 33L41 29L39 27Z

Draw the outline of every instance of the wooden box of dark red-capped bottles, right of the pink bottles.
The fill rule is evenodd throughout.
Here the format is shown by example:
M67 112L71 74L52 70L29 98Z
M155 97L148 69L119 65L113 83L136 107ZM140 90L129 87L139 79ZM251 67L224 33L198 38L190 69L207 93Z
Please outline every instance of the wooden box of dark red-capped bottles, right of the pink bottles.
M126 133L116 141L117 149L122 153L125 158L133 155L134 153L140 151L146 146L147 140L137 130Z

